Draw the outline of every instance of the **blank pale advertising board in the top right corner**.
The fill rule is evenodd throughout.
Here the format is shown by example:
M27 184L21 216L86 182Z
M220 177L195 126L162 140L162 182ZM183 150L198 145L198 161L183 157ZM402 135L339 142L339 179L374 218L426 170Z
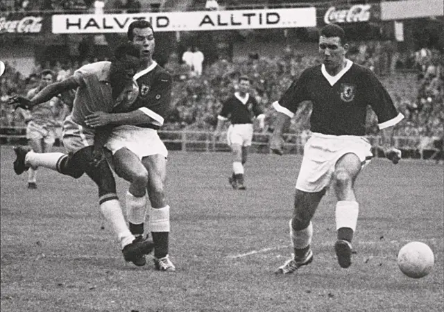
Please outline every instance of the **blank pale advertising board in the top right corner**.
M443 0L408 0L381 2L381 19L416 19L443 16Z

